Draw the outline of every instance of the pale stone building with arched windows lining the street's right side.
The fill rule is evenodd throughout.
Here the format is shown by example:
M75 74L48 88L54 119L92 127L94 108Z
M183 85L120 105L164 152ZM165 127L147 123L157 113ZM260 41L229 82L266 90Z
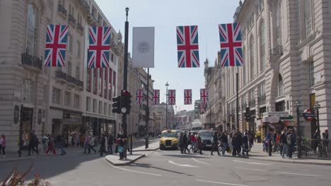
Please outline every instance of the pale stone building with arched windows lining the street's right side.
M301 112L313 111L315 104L320 104L320 130L330 128L330 7L327 0L240 1L234 21L241 25L245 64L222 70L223 117L227 123L234 121L228 116L236 111L238 72L241 130L264 128L267 132L293 127L286 126L286 120L296 120L296 100L301 102ZM262 113L280 111L289 117L263 122L266 118ZM302 135L311 137L318 128L316 119L300 120Z

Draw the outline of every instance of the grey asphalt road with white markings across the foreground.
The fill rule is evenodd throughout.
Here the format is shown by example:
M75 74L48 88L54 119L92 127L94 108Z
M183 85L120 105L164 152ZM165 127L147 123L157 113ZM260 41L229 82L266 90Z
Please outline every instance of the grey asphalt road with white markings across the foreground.
M14 166L30 161L0 163L0 179ZM131 166L114 167L95 154L69 154L35 159L33 171L52 185L330 185L331 166L276 163L230 156L153 151Z

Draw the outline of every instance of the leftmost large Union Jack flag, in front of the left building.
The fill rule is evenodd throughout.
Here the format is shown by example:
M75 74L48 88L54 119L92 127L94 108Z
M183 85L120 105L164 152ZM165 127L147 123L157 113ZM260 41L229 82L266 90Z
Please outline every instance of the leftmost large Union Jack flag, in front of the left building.
M68 25L47 25L45 66L65 66Z

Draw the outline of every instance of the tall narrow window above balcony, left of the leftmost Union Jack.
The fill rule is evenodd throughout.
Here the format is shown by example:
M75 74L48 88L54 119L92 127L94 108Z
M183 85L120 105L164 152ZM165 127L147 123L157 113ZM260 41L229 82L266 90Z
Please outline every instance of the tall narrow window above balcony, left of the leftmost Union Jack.
M26 28L26 51L33 56L35 54L35 7L28 5L28 23Z

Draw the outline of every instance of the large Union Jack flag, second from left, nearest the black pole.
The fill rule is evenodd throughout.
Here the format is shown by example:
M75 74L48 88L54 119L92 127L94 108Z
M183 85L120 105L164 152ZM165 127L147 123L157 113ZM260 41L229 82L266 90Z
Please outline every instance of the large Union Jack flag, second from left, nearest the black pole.
M90 27L88 68L110 68L110 27Z

